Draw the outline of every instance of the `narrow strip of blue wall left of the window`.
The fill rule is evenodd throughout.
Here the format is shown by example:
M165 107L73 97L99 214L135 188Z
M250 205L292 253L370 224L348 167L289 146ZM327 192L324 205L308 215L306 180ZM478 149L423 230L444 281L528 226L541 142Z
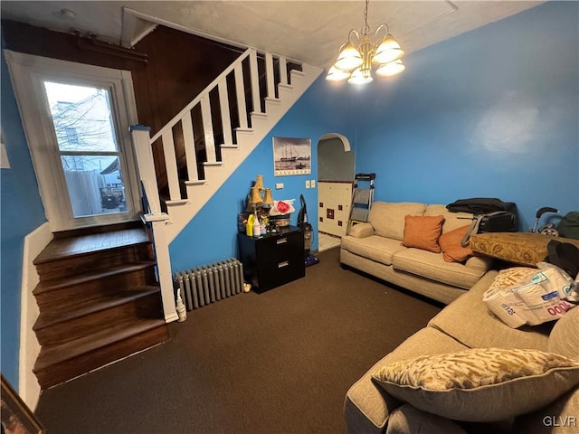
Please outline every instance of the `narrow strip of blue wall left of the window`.
M4 49L4 38L2 39ZM20 350L20 311L24 237L46 221L33 165L10 76L2 54L2 130L9 169L0 170L0 296L2 308L2 373L18 388L18 352Z

